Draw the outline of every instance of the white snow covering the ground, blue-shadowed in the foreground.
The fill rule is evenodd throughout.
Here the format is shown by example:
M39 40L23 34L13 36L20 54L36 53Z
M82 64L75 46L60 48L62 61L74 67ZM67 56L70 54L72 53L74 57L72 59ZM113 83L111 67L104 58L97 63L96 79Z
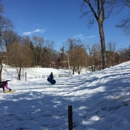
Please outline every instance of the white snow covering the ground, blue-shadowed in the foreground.
M0 90L0 130L68 130L68 106L73 130L130 130L130 61L69 77L51 69L55 85L47 82L50 71L44 69L43 76L39 69L31 69L33 78L26 82L16 79L16 69L3 70L3 79L11 79L9 87L16 92Z

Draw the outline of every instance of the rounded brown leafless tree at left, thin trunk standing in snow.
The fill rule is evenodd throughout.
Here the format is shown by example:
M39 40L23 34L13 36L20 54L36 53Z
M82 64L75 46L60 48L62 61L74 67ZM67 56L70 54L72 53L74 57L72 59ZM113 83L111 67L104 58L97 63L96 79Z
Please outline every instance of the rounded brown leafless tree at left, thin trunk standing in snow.
M21 70L23 67L29 67L32 63L32 51L26 44L19 44L13 42L7 46L9 57L9 64L16 67L18 79L21 79Z

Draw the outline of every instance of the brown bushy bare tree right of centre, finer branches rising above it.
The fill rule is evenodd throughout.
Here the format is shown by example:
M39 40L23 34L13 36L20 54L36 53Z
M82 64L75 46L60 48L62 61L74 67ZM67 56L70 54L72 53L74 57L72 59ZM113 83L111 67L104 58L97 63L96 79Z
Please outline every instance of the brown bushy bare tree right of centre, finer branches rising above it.
M75 71L79 71L87 65L87 53L80 39L71 39L65 42L65 49L70 59L70 66Z

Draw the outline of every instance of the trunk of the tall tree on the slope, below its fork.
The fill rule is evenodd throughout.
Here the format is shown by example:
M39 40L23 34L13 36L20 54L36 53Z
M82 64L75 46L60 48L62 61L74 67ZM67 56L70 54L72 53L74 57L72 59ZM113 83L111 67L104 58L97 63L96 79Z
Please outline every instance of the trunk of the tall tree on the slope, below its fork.
M100 40L101 40L102 69L105 69L107 67L107 62L106 62L105 36L104 36L102 20L98 21L98 27L99 27L99 34L100 34Z

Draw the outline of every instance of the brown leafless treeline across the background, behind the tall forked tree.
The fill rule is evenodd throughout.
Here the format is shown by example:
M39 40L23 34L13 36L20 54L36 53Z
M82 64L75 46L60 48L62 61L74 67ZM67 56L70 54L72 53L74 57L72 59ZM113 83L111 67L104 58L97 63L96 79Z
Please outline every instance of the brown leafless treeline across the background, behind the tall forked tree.
M20 37L6 30L3 37L5 51L2 59L10 66L68 68L75 71L88 68L92 71L102 69L100 43L82 43L80 39L68 38L60 51L54 49L54 42L42 37ZM7 38L8 37L8 38ZM13 38L12 38L13 37ZM106 45L107 67L130 60L130 48L116 49L115 42ZM68 63L69 62L69 63Z

